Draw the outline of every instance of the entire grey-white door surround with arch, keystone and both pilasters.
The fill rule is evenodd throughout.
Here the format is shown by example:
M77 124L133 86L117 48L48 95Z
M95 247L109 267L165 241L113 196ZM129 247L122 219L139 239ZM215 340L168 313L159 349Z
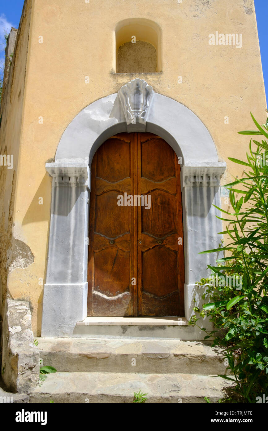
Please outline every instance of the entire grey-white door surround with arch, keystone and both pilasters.
M209 131L190 109L154 93L145 81L130 81L121 90L82 109L63 133L55 162L46 163L53 179L43 296L45 337L73 336L76 323L86 318L89 167L98 147L114 134L157 134L182 157L186 319L196 305L194 297L201 296L195 282L215 259L198 254L216 248L222 230L213 203L220 206L219 181L225 162L219 162Z

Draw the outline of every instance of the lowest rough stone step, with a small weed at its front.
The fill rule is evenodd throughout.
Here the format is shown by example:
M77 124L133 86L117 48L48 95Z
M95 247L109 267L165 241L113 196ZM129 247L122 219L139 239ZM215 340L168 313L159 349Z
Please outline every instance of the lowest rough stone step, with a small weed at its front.
M227 380L210 375L57 372L29 396L30 403L132 403L140 389L146 403L216 403L226 387Z

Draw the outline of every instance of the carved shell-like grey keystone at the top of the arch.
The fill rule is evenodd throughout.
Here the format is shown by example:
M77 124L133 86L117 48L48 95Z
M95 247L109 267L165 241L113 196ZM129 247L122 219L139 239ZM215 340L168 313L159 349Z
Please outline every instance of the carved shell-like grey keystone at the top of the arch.
M154 90L151 85L143 79L132 79L118 91L119 99L126 118L128 131L145 131L148 108L154 97ZM132 126L134 125L134 126ZM132 127L131 127L132 126Z

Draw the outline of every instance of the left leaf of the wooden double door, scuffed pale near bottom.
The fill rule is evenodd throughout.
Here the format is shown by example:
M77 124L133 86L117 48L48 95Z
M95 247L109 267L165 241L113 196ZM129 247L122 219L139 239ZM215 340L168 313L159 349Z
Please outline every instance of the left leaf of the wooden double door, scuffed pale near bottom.
M89 209L88 315L129 316L135 310L134 208L118 206L118 194L134 188L135 136L105 141L91 166ZM132 164L132 165L131 165ZM134 275L133 275L134 274Z

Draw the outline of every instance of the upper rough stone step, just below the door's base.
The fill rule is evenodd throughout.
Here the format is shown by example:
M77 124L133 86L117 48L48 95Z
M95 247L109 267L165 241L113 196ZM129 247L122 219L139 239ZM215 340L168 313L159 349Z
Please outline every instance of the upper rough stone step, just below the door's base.
M43 365L60 372L225 374L222 350L201 341L38 338Z

